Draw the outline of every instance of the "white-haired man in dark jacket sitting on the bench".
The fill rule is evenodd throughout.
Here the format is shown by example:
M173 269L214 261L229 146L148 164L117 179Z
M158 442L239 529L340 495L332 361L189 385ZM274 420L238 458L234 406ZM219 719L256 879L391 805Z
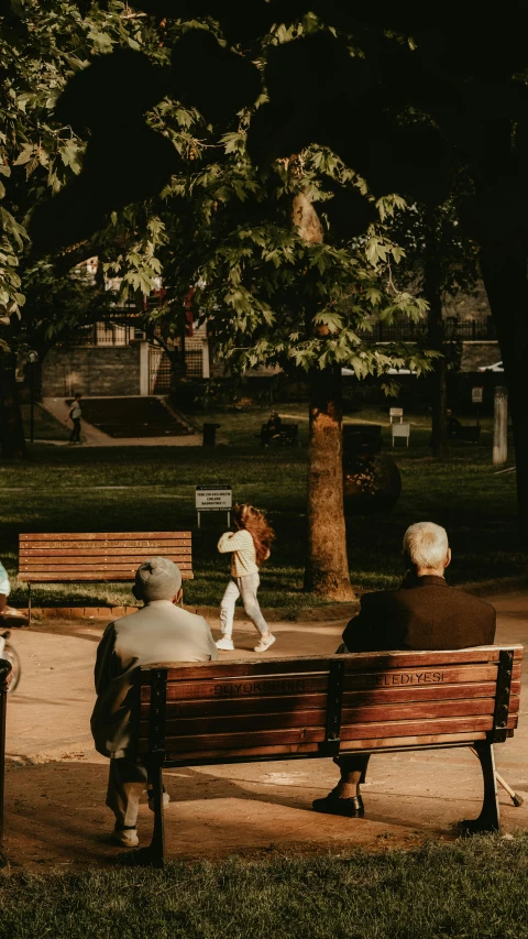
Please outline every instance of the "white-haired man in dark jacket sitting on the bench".
M344 630L338 652L468 648L494 642L494 608L446 581L451 548L444 528L433 522L410 525L404 558L407 574L399 589L361 598L360 613ZM316 811L363 817L360 783L369 760L361 753L338 756L341 779L328 796L315 799Z

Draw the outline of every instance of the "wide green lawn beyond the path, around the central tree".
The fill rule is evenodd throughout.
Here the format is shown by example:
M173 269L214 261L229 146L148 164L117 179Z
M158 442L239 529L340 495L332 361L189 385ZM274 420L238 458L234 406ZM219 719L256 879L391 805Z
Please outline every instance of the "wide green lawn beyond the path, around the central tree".
M38 446L32 460L0 465L0 557L11 576L18 568L20 532L166 531L194 532L196 576L186 586L186 601L218 605L228 578L228 560L216 544L226 515L202 516L196 527L197 484L230 483L237 501L264 509L277 532L271 560L263 568L263 607L295 614L320 600L302 593L306 544L307 449L262 448L252 437L267 408L248 413L207 414L222 423L226 443L202 447L82 448ZM284 419L306 418L306 407L287 405ZM383 419L385 449L391 449L386 412L365 410L353 421ZM400 544L407 525L431 520L449 531L452 583L498 581L526 571L518 550L515 473L496 476L491 462L491 432L481 444L454 443L452 458L431 459L427 418L411 419L411 446L392 452L398 462L403 493L388 517L348 520L349 559L353 583L361 589L397 585L402 575ZM307 421L305 421L307 434ZM244 440L242 445L241 440ZM306 436L304 437L306 440ZM301 435L302 440L302 435ZM35 603L120 604L132 602L127 586L35 586ZM22 603L25 588L14 582L13 601Z

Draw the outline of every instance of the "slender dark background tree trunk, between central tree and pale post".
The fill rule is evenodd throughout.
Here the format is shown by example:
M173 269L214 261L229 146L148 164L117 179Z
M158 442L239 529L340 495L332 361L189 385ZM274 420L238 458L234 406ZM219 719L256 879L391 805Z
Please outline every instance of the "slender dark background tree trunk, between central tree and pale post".
M433 254L431 243L428 253ZM440 271L433 259L426 261L424 272L424 296L429 304L428 336L429 346L441 352L441 359L433 360L432 373L432 456L440 460L449 459L448 436L448 369L446 362L444 329L442 316L442 292Z

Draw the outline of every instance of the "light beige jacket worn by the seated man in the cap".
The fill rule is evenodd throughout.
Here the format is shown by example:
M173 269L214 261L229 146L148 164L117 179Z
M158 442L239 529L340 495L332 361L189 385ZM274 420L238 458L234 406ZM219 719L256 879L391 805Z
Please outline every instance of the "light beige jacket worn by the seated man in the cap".
M97 700L91 716L96 750L103 756L135 755L140 665L217 658L218 649L204 616L188 613L169 600L153 600L136 613L110 623L97 649Z

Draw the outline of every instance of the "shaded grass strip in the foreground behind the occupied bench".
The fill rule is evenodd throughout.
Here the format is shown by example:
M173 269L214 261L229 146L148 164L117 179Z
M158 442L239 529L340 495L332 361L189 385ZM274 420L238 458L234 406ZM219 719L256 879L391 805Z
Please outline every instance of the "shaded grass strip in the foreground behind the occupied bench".
M526 939L528 838L14 875L6 939Z

